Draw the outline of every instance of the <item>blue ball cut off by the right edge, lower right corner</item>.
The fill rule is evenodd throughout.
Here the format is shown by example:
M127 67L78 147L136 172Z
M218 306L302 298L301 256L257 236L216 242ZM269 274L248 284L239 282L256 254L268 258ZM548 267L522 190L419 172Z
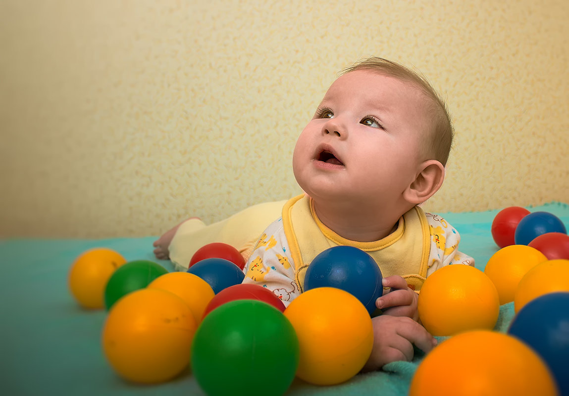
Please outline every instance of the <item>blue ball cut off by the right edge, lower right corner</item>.
M560 394L569 395L569 293L550 293L527 303L508 330L542 357Z

